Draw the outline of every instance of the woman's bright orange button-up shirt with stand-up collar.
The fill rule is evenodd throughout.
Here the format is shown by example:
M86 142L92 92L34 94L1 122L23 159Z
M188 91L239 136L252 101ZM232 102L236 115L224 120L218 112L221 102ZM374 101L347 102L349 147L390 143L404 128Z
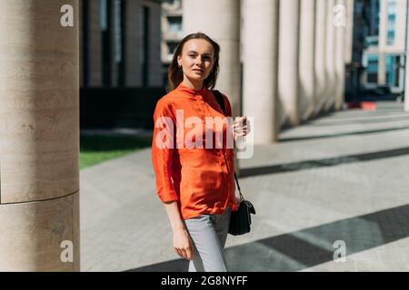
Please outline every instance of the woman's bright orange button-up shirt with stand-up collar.
M226 116L231 117L230 102L223 97ZM156 192L163 202L177 200L184 219L220 214L227 206L232 210L238 208L234 195L234 149L226 146L227 126L208 126L206 117L225 120L213 92L206 88L195 91L183 83L162 97L155 107L152 161ZM195 125L189 121L196 121ZM197 121L201 121L201 126ZM197 130L203 136L203 148L192 146L197 141L192 137L198 136ZM207 138L210 144L209 134L213 144L207 149L205 141ZM216 134L220 137L223 134L221 149L215 146ZM220 148L221 142L218 144Z

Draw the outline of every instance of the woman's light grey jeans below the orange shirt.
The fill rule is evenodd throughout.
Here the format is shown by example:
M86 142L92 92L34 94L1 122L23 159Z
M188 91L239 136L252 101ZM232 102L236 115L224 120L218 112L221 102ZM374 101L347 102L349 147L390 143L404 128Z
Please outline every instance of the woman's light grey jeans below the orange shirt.
M193 240L193 261L189 272L227 272L224 244L230 222L230 208L223 214L185 219Z

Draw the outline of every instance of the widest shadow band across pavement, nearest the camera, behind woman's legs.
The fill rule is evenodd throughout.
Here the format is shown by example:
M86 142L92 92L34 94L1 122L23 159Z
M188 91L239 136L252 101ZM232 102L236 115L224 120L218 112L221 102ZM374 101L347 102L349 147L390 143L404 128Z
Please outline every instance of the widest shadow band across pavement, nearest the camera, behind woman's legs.
M334 261L335 241L344 241L349 256L405 237L409 237L409 205L229 247L225 256L230 271L300 271ZM128 271L181 272L187 266L187 261L177 259Z

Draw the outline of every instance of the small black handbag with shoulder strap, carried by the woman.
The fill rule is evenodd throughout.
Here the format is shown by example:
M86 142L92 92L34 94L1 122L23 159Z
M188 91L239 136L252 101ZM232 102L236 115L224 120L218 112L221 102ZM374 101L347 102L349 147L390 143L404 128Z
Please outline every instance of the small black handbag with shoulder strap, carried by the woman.
M224 111L225 114L224 100L222 94L216 90L214 90L213 92L217 102L220 105L220 108L222 109L222 111ZM234 179L240 194L240 203L238 210L231 212L229 234L233 236L240 236L250 232L250 225L252 224L251 214L255 215L255 208L250 201L244 199L235 172Z

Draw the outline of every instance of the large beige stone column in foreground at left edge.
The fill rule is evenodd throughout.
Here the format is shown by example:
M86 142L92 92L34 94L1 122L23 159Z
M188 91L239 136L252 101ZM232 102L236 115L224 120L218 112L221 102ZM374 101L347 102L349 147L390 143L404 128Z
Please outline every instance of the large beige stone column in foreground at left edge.
M78 271L78 2L3 0L0 35L0 271Z

